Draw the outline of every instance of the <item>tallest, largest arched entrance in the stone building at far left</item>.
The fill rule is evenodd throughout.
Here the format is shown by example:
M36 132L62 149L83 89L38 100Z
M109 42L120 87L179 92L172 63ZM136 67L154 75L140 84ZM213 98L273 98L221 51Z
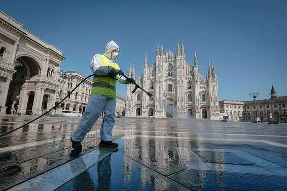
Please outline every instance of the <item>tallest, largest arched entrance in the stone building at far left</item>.
M34 59L28 56L19 57L15 60L14 65L16 72L12 75L12 80L8 89L5 104L7 107L6 114L12 114L16 112L25 114L28 112L28 110L28 113L31 113L32 109L27 108L27 103L31 104L31 100L34 100L33 97L35 93L33 92L32 95L32 91L28 89L31 89L29 86L34 87L34 84L25 84L25 82L29 81L34 76L40 75L40 66ZM25 84L24 87L23 84Z

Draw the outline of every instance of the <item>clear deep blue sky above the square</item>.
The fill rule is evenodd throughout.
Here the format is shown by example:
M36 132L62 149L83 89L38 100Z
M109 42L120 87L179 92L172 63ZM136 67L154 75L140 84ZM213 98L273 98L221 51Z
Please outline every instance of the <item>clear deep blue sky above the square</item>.
M90 60L107 41L120 45L118 63L141 75L145 52L155 62L156 41L175 51L183 39L186 61L197 49L199 71L216 63L220 100L270 97L271 83L287 95L287 1L4 1L1 10L54 44L62 69L89 75ZM125 85L118 86L125 97Z

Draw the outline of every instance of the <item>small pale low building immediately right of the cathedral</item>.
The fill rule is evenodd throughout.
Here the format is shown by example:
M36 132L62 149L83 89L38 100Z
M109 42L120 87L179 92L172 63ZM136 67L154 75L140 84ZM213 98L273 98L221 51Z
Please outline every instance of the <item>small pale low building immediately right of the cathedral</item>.
M219 107L221 113L227 113L229 120L242 120L244 102L223 100L219 101Z

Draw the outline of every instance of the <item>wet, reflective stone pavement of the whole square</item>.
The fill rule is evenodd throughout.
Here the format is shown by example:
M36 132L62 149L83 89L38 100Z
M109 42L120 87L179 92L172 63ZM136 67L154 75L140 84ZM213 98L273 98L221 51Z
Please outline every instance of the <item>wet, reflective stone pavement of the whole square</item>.
M0 116L0 134L30 117ZM287 126L116 118L118 150L83 151L69 137L80 118L45 117L0 137L0 190L284 190Z

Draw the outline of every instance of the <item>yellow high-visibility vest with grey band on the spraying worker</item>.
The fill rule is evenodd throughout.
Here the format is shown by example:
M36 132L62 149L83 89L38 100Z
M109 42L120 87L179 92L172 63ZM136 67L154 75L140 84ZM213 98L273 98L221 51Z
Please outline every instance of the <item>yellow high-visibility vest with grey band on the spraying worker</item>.
M119 65L115 62L111 63L111 60L106 58L104 55L99 55L101 57L101 66L111 66L117 70L120 69ZM116 94L117 80L109 76L94 76L93 86L91 94L103 94L110 98L117 98Z

